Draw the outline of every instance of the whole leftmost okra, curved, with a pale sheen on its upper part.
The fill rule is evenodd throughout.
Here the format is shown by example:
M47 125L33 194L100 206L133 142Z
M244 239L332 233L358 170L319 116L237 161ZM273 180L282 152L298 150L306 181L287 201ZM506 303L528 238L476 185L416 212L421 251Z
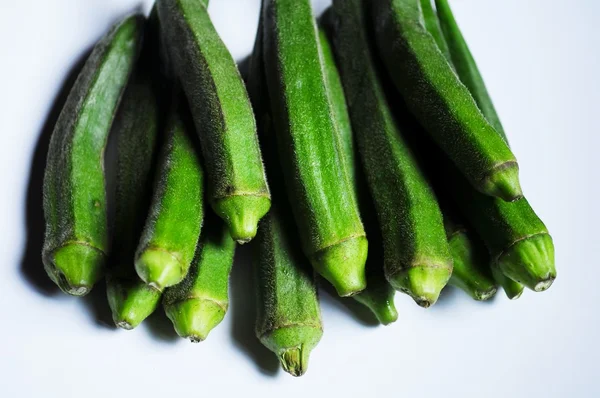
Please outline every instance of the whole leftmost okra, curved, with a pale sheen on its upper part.
M82 296L102 277L108 252L104 149L137 60L144 18L115 25L94 47L54 128L44 176L44 268Z

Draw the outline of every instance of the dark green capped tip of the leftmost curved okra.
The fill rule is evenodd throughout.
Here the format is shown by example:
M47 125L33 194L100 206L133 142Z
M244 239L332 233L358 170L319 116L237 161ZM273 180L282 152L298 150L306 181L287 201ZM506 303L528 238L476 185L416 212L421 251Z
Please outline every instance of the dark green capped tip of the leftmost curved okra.
M69 243L44 256L50 279L65 293L85 296L104 275L106 256L88 244Z

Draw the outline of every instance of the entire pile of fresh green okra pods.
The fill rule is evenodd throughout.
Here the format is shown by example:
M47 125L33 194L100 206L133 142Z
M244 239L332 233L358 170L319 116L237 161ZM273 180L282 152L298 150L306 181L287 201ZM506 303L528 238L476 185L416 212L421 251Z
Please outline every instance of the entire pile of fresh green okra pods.
M384 325L396 291L427 308L447 284L475 300L550 287L552 238L448 0L333 0L319 18L263 0L239 68L207 7L125 18L75 82L44 178L43 263L64 292L106 278L117 326L162 303L202 341L249 244L256 336L300 376L323 332L318 278Z

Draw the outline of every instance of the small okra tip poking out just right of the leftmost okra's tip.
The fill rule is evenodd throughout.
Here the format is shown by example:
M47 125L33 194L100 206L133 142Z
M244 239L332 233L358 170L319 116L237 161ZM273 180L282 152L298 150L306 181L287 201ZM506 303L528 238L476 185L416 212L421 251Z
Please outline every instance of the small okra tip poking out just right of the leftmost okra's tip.
M161 293L139 280L109 278L107 296L115 325L131 330L154 312Z

